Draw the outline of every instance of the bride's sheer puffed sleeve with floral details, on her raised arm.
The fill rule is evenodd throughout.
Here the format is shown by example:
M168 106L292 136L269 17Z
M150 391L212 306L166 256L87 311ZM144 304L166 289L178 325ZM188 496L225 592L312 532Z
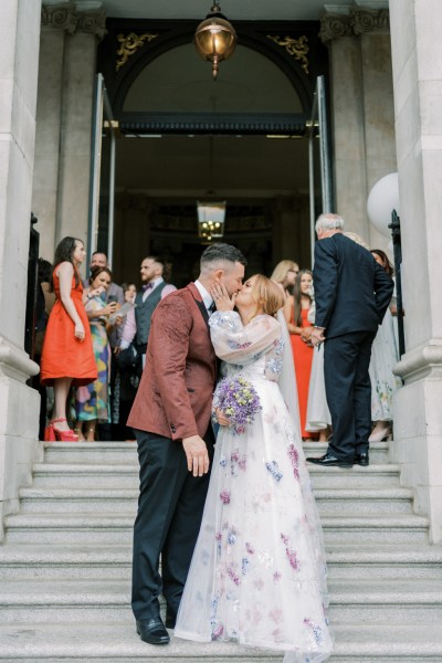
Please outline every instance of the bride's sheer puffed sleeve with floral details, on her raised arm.
M254 361L281 336L280 324L270 315L259 315L244 326L236 312L217 311L210 316L209 325L217 356L229 364Z

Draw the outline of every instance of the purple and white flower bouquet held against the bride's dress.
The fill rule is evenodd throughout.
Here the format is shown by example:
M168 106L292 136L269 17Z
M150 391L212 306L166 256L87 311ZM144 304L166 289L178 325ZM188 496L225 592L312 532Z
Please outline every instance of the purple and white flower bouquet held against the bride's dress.
M221 380L213 393L213 411L217 408L229 417L238 434L244 433L246 424L262 410L255 388L241 376Z

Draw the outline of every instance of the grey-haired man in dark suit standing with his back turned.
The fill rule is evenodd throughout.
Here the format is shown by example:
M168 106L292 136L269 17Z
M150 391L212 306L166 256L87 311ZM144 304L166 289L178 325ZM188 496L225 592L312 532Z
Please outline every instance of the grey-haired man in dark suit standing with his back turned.
M324 467L368 465L371 432L371 344L393 282L371 253L343 234L338 214L316 221L314 346L324 346L324 376L333 436L327 453L307 459Z

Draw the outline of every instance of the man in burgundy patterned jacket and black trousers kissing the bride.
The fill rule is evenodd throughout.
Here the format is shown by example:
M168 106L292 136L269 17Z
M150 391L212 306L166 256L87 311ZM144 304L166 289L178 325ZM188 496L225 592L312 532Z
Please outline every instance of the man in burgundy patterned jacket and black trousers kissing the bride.
M217 371L210 291L223 284L230 296L238 293L245 264L230 244L208 246L198 280L165 297L151 319L146 366L127 422L140 465L131 607L137 632L149 644L170 640L159 596L167 601L166 627L173 628L209 486Z

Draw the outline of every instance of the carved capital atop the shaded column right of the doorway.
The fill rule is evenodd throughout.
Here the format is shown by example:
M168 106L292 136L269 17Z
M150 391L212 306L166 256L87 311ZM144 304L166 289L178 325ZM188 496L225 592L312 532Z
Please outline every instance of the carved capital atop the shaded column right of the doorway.
M365 32L390 30L388 9L350 7L348 14L322 12L319 38L324 43L341 36L358 36Z

